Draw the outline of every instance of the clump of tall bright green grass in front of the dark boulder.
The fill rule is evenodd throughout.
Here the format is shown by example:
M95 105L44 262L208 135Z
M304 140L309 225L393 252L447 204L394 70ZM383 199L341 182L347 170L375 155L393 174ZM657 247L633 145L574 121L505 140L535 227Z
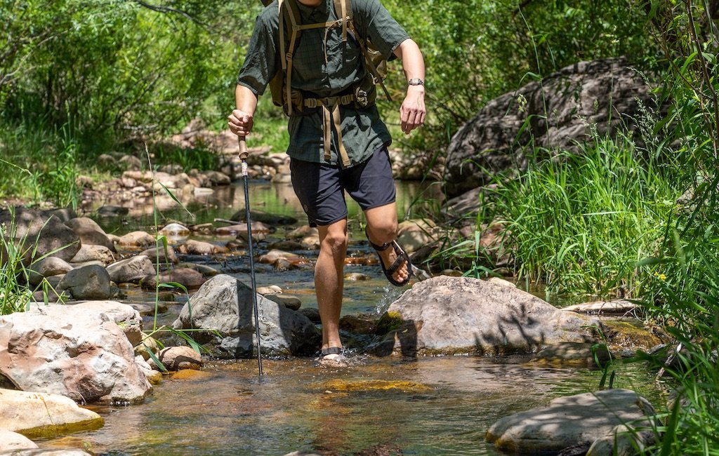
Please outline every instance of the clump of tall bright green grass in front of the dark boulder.
M579 154L533 164L498 192L518 275L591 294L633 294L651 279L636 265L658 252L681 195L627 137L595 138Z

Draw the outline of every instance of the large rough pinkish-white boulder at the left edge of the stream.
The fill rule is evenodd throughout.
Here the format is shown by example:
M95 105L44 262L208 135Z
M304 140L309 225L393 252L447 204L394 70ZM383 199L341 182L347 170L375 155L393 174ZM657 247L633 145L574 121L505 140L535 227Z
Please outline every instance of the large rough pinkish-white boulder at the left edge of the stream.
M126 304L83 302L4 315L0 374L22 391L62 394L83 403L142 402L152 387L114 321L129 314L139 318Z

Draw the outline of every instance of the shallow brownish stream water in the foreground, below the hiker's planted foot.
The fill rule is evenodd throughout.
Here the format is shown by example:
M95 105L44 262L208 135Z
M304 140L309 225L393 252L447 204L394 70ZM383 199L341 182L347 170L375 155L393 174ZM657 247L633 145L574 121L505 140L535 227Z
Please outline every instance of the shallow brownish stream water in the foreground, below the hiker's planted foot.
M42 447L106 455L495 455L485 432L501 417L596 389L600 372L526 365L526 358L353 358L210 363L155 388L141 406L96 407L102 429ZM659 400L625 368L615 386Z

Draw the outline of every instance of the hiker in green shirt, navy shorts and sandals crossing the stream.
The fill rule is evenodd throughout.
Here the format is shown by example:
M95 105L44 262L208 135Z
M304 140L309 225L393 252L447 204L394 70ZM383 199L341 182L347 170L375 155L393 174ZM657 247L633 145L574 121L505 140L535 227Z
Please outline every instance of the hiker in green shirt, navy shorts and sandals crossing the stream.
M238 136L249 134L257 97L280 80L273 101L290 115L292 185L310 225L319 230L314 281L322 322L320 359L341 364L339 315L348 243L344 192L364 211L365 234L390 283L404 286L412 274L407 253L395 241L398 221L388 154L392 140L374 103L375 80L367 70L372 64L362 64L368 45L364 40L385 60L402 62L408 81L400 107L405 134L424 122L424 60L416 42L378 0L281 1L282 16L275 0L257 17L237 78L237 108L228 117L229 128ZM288 22L303 29L293 35Z

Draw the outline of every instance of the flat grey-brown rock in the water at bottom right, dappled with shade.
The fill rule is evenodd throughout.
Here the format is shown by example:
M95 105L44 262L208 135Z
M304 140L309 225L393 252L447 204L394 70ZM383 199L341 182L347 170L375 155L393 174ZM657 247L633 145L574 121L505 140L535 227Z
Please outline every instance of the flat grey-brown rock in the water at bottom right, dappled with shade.
M560 397L500 419L487 431L497 450L518 454L553 454L569 447L589 447L621 424L651 427L654 408L634 391L609 389ZM583 453L582 453L583 454Z

